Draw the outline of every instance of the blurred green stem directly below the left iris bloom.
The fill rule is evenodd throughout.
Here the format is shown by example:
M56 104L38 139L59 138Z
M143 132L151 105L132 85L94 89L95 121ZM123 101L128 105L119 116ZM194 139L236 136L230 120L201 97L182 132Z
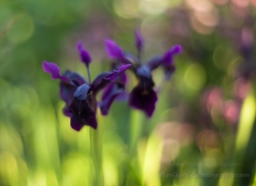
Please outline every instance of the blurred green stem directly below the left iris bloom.
M99 114L97 114L99 116ZM98 121L100 121L98 117ZM92 163L94 166L94 186L104 185L103 176L103 159L102 159L102 125L99 124L97 129L90 127L90 142L91 142L91 154Z

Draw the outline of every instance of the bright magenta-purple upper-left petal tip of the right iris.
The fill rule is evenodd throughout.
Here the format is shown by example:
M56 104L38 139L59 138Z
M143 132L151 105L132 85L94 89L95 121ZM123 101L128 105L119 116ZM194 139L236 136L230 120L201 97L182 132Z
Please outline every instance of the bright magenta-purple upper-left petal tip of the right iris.
M107 54L110 59L114 59L114 60L124 59L122 49L120 46L118 46L114 41L110 39L107 39L105 43L106 43Z

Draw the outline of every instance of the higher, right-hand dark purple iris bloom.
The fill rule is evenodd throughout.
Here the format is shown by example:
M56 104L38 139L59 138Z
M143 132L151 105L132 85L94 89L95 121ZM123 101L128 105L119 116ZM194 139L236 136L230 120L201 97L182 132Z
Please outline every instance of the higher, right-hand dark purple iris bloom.
M123 52L121 47L114 41L107 39L106 48L108 57L114 60L116 66L123 64L131 64L130 70L135 73L138 80L137 85L134 87L129 96L129 105L135 109L142 110L148 117L152 116L155 110L155 104L158 100L157 93L153 89L154 82L152 80L151 71L158 67L164 68L167 80L175 71L173 64L174 56L181 52L181 46L176 45L167 50L163 56L154 56L149 59L145 64L141 62L141 53L143 49L143 38L141 33L135 31L135 46L137 48L137 57L131 53Z

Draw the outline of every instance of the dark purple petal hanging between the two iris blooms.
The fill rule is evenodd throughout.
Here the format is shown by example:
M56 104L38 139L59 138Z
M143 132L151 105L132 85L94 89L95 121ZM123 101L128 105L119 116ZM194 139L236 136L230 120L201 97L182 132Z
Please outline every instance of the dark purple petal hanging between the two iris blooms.
M105 89L105 92L103 93L102 101L99 104L101 108L101 113L103 115L107 115L111 104L121 94L123 89L124 89L124 86L120 86L117 83L107 86L107 88Z

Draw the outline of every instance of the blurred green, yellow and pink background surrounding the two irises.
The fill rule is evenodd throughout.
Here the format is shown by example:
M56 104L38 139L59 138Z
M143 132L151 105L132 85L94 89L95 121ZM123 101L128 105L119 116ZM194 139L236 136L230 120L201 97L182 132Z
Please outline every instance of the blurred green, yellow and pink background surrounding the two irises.
M183 52L152 118L125 101L99 116L105 185L256 185L255 18L255 0L1 0L0 185L93 184L89 127L69 126L42 61L87 76L81 40L93 79L109 70L105 39L135 53L135 29L144 61Z

